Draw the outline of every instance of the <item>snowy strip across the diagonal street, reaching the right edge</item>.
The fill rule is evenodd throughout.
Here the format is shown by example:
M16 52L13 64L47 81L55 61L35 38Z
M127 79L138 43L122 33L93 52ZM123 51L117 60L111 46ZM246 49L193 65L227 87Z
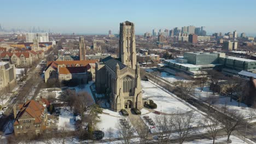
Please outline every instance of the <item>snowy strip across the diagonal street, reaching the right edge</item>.
M207 99L211 99L214 107L217 107L219 110L221 107L226 106L230 110L236 110L240 113L242 113L245 117L249 117L248 114L250 113L250 110L253 110L252 108L248 107L246 104L240 103L240 107L238 107L238 101L232 99L230 101L230 97L225 97L223 95L219 94L213 94L213 92L210 90L210 87L204 87L203 91L201 91L200 87L197 87L195 90L195 98L206 101ZM254 113L256 115L256 110L254 109ZM254 117L255 118L255 117Z

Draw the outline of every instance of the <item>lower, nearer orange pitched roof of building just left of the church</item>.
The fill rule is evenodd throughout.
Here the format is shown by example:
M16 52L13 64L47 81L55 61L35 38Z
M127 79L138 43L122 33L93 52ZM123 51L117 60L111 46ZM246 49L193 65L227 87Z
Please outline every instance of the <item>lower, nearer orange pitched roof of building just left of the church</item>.
M90 67L90 65L88 64ZM88 67L61 67L59 68L59 74L60 75L66 75L66 74L79 74L79 73L85 73Z

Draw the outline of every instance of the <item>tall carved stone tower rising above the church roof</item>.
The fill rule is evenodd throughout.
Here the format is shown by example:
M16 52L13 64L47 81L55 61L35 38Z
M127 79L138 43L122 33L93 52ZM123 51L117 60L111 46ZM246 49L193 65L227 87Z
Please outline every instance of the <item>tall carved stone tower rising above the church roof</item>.
M129 21L120 23L119 58L127 67L136 69L136 44L134 24Z

